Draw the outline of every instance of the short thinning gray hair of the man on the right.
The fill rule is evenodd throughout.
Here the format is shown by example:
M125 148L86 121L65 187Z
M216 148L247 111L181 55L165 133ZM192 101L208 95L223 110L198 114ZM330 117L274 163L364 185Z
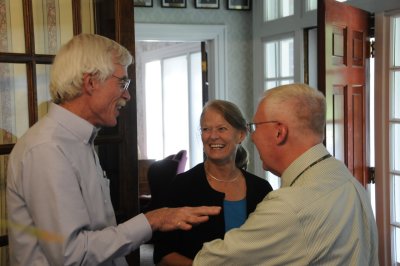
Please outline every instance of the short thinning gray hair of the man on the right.
M268 98L280 109L284 107L285 111L295 118L299 128L323 138L326 124L326 101L320 91L306 84L295 83L267 90L264 92L264 98ZM281 106L283 103L290 105Z

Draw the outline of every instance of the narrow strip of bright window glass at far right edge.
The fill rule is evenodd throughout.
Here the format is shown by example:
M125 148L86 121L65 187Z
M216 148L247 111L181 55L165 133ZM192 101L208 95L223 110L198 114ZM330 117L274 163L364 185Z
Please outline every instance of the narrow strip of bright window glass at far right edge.
M391 180L391 227L394 261L400 263L400 16L391 19L389 68L389 173Z

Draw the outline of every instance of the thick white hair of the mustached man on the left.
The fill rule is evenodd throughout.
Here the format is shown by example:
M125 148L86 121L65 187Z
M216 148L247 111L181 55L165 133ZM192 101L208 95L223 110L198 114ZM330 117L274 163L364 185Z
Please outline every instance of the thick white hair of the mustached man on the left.
M82 93L83 74L104 81L114 72L114 64L129 66L133 58L119 43L96 34L80 34L58 51L51 70L50 94L54 103L63 103Z

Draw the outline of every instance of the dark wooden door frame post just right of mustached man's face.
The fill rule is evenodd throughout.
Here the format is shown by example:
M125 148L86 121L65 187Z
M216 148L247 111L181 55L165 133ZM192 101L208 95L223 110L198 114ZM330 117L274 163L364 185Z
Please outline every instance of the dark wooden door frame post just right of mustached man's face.
M114 0L115 40L126 47L135 57L134 6L132 0ZM139 213L139 180L137 153L137 110L135 63L128 67L128 76L133 80L129 86L131 101L126 105L118 121L120 168L120 210L123 220L128 220ZM123 221L122 220L122 221ZM121 222L122 222L121 221ZM139 265L139 250L127 256L129 265Z

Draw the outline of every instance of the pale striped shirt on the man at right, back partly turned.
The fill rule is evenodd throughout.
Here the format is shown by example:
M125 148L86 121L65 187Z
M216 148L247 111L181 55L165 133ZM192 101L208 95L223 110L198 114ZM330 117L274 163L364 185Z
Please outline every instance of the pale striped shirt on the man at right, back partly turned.
M376 266L378 234L369 197L322 144L297 158L246 222L205 243L193 265Z

